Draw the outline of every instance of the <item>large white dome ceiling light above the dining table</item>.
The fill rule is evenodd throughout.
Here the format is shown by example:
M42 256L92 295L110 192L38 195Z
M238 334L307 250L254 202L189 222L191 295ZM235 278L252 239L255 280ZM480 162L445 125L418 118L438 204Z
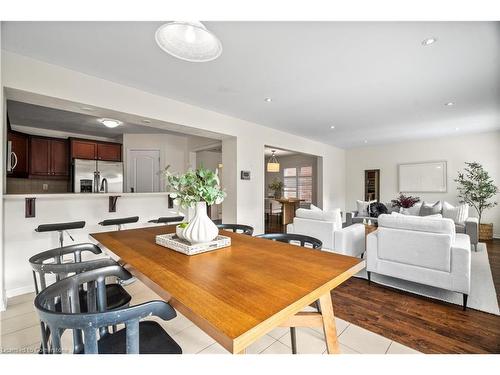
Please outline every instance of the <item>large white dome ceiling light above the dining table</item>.
M156 30L155 39L162 50L185 61L212 61L222 53L220 40L199 21L168 22Z

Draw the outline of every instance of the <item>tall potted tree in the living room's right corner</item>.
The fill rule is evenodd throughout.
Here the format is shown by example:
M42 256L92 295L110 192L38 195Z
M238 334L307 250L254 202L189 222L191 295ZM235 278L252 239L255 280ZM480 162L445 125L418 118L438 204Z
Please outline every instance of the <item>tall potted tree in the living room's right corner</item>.
M493 224L483 224L482 218L486 209L497 205L497 202L492 202L491 198L498 193L498 187L481 164L466 162L465 165L464 171L458 172L458 177L455 179L458 198L462 203L471 205L477 211L479 239L490 240L493 238Z

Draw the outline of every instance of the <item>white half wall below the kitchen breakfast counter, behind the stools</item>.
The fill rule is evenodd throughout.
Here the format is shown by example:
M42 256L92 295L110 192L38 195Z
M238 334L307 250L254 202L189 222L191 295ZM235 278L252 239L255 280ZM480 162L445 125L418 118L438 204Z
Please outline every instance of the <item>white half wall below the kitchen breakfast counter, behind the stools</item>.
M83 229L72 230L71 235L78 242L89 242L89 233L115 230L102 227L98 222L104 219L139 216L137 224L126 228L140 227L148 220L160 216L175 216L176 210L168 208L167 194L124 194L118 198L116 212L108 212L108 197L105 195L64 195L38 196L36 217L24 217L24 196L6 196L4 210L8 217L5 222L5 288L7 296L33 291L33 279L28 259L43 251L58 247L56 232L38 233L35 228L44 223L65 221L86 221ZM65 244L71 240L65 235Z

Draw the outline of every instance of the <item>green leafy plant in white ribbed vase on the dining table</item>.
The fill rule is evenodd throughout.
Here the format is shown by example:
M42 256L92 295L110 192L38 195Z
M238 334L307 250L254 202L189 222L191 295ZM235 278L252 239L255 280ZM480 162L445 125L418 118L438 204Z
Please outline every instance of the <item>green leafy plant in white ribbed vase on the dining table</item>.
M191 244L212 241L219 230L207 215L207 205L220 204L226 197L220 186L218 170L200 167L196 170L189 169L184 174L174 174L167 166L164 175L174 204L185 209L195 209L194 217L187 225L177 226L177 236Z

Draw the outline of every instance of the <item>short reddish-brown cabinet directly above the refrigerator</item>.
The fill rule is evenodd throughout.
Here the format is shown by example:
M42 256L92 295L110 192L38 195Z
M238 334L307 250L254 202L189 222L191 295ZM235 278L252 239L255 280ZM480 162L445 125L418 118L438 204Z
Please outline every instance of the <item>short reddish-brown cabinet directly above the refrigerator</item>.
M122 145L120 143L72 138L70 147L72 159L122 161Z

